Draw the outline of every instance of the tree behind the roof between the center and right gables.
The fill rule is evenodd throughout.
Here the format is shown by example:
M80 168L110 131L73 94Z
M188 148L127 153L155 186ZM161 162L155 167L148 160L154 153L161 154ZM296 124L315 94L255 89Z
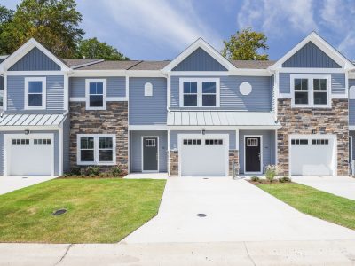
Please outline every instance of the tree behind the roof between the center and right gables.
M267 54L259 54L260 49L267 50L267 37L262 32L252 31L250 27L237 31L229 41L224 41L222 55L232 60L267 60Z

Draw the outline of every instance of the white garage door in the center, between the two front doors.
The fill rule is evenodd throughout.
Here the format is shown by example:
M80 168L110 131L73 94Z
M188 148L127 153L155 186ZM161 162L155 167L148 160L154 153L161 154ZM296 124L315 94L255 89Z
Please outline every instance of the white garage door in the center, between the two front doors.
M181 176L227 176L228 137L180 137Z

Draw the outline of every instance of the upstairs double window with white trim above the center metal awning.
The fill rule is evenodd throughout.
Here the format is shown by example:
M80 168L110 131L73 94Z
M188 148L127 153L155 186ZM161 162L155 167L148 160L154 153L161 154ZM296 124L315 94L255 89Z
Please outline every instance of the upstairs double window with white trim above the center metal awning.
M180 78L180 107L218 107L219 79Z

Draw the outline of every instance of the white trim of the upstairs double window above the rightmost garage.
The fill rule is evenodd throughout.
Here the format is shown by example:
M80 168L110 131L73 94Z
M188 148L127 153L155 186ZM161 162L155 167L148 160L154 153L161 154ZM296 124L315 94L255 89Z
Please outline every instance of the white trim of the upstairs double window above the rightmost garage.
M291 74L290 75L290 89L291 89L291 107L292 108L331 108L331 94L332 94L332 78L330 74ZM308 80L308 105L295 104L295 79ZM327 105L314 105L313 97L313 80L326 79L327 80Z

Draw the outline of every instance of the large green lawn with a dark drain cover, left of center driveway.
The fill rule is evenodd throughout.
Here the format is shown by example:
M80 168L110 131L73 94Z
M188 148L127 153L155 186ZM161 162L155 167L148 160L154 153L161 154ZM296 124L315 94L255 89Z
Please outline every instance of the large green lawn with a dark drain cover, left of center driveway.
M55 179L0 196L0 242L112 243L157 214L165 180ZM51 213L65 207L64 215Z

